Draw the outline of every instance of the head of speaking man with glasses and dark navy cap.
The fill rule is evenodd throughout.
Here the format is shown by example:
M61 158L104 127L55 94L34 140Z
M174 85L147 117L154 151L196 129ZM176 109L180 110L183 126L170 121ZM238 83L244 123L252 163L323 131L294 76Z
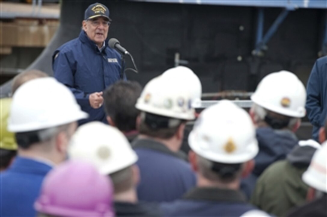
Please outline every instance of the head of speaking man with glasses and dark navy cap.
M98 47L102 47L103 42L107 39L111 24L109 15L108 7L101 3L91 4L84 12L82 28Z

